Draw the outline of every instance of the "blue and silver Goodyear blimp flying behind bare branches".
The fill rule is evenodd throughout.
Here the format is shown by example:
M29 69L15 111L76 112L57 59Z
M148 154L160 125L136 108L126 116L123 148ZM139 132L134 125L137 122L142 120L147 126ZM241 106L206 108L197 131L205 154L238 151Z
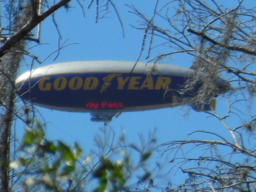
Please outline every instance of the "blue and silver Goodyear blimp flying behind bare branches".
M215 110L214 97L230 85L217 78L219 90L203 105L184 103L180 91L195 74L192 68L132 61L76 61L37 67L15 82L20 97L53 110L89 112L91 120L109 122L122 112L189 104L196 111ZM191 98L200 87L185 93ZM174 97L180 98L174 102ZM178 100L179 101L179 100Z

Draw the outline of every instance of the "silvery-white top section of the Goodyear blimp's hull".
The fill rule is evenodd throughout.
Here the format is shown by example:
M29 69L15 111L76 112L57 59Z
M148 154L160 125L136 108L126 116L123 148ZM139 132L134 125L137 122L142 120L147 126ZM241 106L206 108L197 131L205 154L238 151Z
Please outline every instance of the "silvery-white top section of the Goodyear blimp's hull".
M55 63L38 67L23 73L16 79L16 83L31 77L72 74L72 73L145 73L157 75L191 76L192 69L182 68L160 63L143 63L134 61L72 61L65 63ZM134 69L133 69L134 67ZM133 69L133 70L132 70Z

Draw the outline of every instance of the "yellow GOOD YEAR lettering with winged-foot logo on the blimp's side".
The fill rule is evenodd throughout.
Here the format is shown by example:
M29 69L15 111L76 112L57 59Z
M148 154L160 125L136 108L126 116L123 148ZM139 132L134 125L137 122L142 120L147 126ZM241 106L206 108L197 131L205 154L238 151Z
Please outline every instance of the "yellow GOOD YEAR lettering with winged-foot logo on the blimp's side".
M61 91L66 87L70 90L94 90L97 87L101 87L100 93L102 93L111 86L114 78L116 78L117 90L123 90L124 87L127 87L127 90L167 90L169 88L169 84L172 82L171 78L166 76L158 76L156 82L154 82L152 76L146 76L142 79L142 76L123 77L121 74L110 74L103 77L103 82L100 85L99 78L97 77L86 77L83 79L82 77L75 76L70 80L67 80L65 77L57 77L54 79L53 83L51 82L50 77L43 77L39 80L38 86L41 91L50 91L52 88L56 91Z

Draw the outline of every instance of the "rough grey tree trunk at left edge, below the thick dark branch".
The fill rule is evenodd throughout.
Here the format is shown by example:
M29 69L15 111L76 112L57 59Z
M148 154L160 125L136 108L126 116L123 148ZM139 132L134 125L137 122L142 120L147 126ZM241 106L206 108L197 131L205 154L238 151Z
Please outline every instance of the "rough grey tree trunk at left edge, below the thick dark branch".
M20 48L24 48L25 44ZM11 49L2 57L0 65L0 188L9 191L9 152L10 131L15 100L15 79L22 59L22 54Z

